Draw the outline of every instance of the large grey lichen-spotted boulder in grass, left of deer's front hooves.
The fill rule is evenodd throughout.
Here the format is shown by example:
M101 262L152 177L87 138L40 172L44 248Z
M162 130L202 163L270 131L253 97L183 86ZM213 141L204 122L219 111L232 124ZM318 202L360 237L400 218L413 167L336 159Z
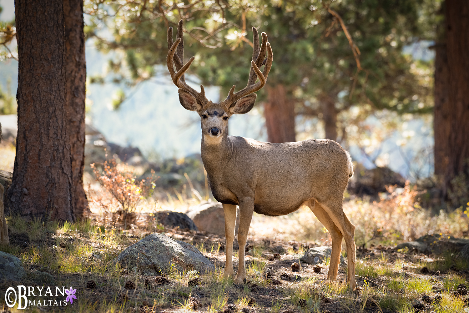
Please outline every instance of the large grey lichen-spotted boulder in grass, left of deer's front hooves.
M172 264L182 270L200 272L215 269L192 244L161 234L151 234L122 251L114 262L119 262L129 271L142 275L156 276L167 273Z

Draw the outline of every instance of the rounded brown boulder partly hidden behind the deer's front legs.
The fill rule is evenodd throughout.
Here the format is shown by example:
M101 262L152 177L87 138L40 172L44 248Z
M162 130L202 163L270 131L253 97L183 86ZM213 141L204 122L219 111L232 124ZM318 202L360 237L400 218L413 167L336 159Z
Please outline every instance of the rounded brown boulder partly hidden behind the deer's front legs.
M187 215L194 221L200 231L225 236L225 214L223 206L219 202L203 202L197 206L191 206ZM236 225L234 233L238 233L239 208L236 213Z

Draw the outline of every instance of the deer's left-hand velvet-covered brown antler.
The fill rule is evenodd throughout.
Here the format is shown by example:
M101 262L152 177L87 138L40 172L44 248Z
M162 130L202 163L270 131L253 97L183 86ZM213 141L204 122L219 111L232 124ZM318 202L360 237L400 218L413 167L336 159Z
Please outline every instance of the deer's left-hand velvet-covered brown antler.
M208 102L205 97L204 86L200 85L200 92L197 92L194 88L186 84L184 73L189 69L189 66L194 61L194 57L190 58L189 61L184 64L184 41L182 40L182 20L177 25L176 41L173 42L173 27L168 28L168 55L166 57L166 63L168 65L169 74L173 79L173 83L176 87L192 94L199 104L204 105ZM173 62L174 61L174 62ZM176 65L177 73L174 71L174 63Z

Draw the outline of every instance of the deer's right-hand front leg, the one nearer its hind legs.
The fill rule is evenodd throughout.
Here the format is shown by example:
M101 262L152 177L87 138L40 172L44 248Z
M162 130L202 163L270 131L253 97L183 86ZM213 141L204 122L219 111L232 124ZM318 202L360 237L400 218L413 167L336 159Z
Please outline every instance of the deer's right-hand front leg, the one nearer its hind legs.
M238 229L238 244L239 244L239 266L238 273L234 282L244 283L248 278L246 275L246 268L244 267L244 251L246 248L246 241L248 240L248 231L251 225L252 212L254 211L254 200L249 199L240 202L239 204L239 229Z

